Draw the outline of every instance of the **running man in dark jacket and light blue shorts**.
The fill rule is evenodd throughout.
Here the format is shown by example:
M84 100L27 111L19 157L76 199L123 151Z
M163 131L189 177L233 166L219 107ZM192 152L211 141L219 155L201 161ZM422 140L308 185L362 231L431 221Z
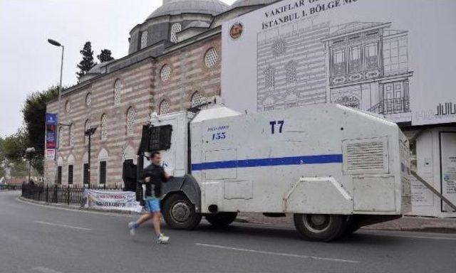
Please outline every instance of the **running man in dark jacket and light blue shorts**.
M136 222L128 223L128 228L130 229L130 235L135 235L136 229L142 223L152 219L157 242L165 244L170 240L170 237L163 235L160 230L160 218L162 217L162 213L160 213L160 198L162 196L162 183L166 183L170 176L160 166L162 163L160 152L152 152L147 160L150 161L150 165L142 172L142 183L145 184L145 210L147 213L142 215Z

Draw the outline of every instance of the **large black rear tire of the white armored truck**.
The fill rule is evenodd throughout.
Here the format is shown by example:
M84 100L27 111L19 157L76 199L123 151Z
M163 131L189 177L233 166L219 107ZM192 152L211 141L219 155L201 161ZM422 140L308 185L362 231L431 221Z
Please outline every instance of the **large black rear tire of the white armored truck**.
M304 240L329 242L339 237L345 230L347 221L344 215L300 214L294 215L294 226Z

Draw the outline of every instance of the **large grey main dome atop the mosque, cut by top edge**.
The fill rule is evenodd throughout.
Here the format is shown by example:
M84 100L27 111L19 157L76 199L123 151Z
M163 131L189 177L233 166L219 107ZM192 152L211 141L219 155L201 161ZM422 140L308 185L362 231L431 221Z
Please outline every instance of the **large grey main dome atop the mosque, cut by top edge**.
M219 0L164 0L147 20L164 15L210 14L212 16L227 11L229 6Z

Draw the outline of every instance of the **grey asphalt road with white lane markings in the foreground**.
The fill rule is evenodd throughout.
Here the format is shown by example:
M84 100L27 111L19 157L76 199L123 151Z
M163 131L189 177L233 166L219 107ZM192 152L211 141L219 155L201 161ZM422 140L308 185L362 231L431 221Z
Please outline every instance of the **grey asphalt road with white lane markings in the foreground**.
M170 245L135 237L130 215L88 213L0 193L0 272L455 272L456 235L360 231L306 242L290 228L236 223L214 230L165 230Z

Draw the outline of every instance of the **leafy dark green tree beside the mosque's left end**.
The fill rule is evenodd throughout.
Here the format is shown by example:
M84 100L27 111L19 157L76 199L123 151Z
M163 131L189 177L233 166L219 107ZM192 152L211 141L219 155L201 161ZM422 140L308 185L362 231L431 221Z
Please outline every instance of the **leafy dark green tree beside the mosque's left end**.
M22 114L24 115L24 135L26 146L35 148L31 157L31 165L40 174L43 173L44 140L46 134L46 103L58 97L58 86L49 87L42 92L33 92L28 95ZM24 157L24 154L22 154Z

